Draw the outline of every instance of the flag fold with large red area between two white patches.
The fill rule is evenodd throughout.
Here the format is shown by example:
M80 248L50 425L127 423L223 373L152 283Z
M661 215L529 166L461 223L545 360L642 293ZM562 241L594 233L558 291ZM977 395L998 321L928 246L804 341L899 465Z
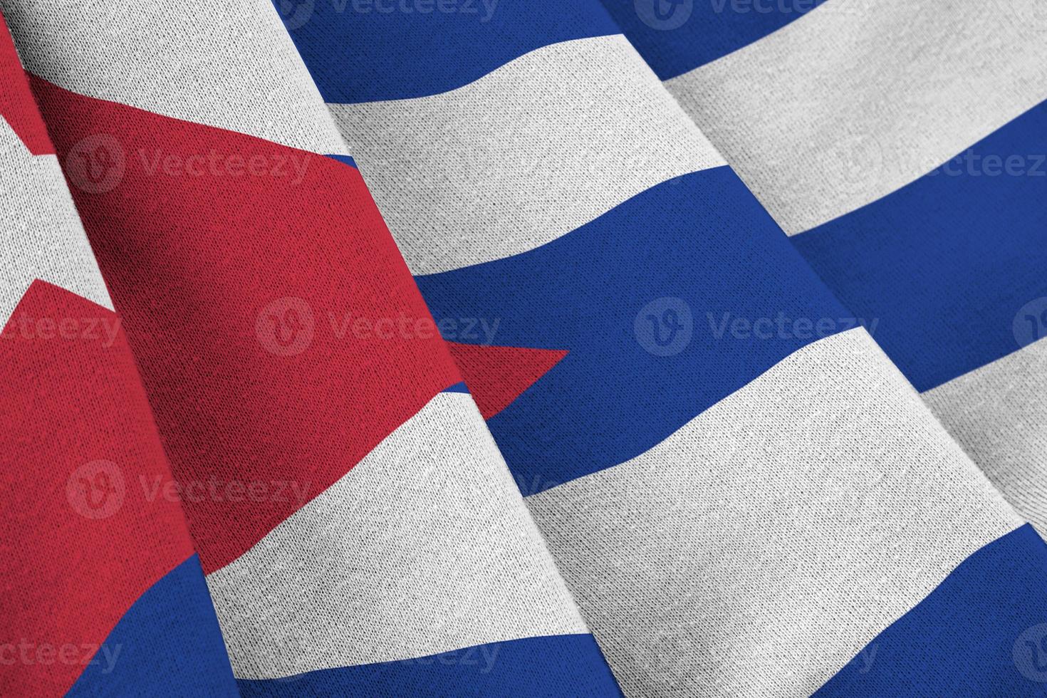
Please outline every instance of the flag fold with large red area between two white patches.
M272 7L41 9L5 7L242 695L619 695Z

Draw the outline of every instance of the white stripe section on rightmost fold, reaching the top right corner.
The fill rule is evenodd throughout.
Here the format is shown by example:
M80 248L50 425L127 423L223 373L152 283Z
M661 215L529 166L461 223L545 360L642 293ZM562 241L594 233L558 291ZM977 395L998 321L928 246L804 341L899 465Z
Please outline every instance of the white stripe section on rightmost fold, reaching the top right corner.
M832 0L666 83L789 234L1047 99L1044 0Z

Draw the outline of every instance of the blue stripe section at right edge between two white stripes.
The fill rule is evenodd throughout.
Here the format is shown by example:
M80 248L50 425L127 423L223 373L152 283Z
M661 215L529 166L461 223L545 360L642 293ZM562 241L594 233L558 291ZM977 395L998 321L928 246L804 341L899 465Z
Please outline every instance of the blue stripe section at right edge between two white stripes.
M1047 296L1047 103L968 152L793 239L921 391L1017 351L1016 316Z

